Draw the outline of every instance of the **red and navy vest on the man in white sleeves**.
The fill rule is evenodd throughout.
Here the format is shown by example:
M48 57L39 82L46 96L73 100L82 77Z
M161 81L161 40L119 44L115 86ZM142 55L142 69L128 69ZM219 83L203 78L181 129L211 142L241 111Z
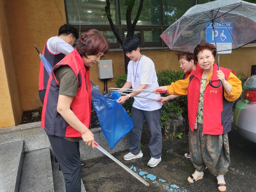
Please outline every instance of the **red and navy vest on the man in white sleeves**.
M48 40L47 40L48 41ZM60 62L65 57L65 54L60 53L60 54L53 54L50 52L47 48L47 43L44 45L44 50L42 55L44 55L45 59L50 63L52 68ZM46 90L47 83L48 83L49 75L44 68L44 64L41 61L40 62L40 71L39 71L39 89L38 90Z

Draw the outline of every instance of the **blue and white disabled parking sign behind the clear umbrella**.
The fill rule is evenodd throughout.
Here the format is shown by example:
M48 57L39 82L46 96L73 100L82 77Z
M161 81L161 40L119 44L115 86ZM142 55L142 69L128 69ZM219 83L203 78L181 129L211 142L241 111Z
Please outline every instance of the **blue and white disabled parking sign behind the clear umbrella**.
M225 24L227 27L224 24L215 22L215 36L218 54L231 53L232 49L232 23L225 22ZM211 21L207 23L207 26L208 27L206 28L206 42L215 45L214 32Z

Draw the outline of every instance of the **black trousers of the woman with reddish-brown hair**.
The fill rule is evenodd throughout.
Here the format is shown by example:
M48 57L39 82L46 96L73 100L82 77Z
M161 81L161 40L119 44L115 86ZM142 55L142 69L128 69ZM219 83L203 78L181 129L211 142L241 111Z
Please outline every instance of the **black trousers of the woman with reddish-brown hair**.
M79 141L71 142L63 137L48 135L52 150L65 178L66 192L81 192Z

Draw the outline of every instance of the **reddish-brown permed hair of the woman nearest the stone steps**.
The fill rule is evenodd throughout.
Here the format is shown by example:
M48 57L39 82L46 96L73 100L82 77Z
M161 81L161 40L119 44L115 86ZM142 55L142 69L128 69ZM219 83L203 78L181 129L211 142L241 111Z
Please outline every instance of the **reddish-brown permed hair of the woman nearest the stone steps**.
M86 55L97 55L98 53L107 54L109 44L107 39L100 34L98 30L90 29L80 35L75 48L81 57L84 56L87 58Z

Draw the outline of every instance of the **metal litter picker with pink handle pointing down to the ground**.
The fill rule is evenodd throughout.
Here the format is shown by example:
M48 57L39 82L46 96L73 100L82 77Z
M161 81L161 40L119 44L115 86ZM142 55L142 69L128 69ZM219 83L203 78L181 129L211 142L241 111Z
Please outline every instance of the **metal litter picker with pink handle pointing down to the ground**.
M135 177L137 180L139 180L141 183L143 183L144 185L149 187L149 183L147 181L145 181L144 179L142 179L139 175L137 175L136 173L134 173L131 169L129 169L128 167L126 167L124 164L122 164L120 161L118 161L114 156L110 155L110 153L108 153L108 151L106 151L105 149L103 149L102 147L99 146L99 144L94 141L94 145L95 148L97 148L98 150L100 150L103 154L105 154L106 156L108 156L110 159L112 159L113 161L115 161L118 165L120 165L125 171L127 171L128 173L130 173L133 177Z

